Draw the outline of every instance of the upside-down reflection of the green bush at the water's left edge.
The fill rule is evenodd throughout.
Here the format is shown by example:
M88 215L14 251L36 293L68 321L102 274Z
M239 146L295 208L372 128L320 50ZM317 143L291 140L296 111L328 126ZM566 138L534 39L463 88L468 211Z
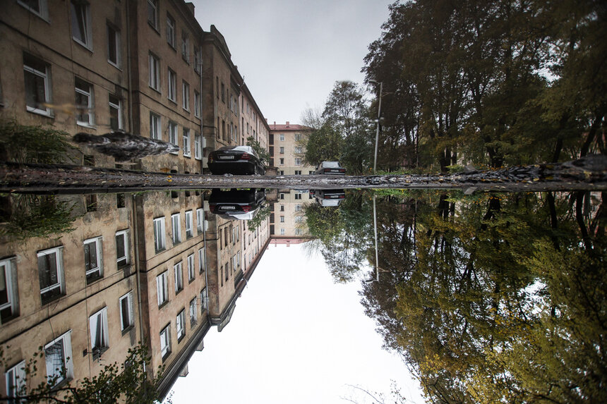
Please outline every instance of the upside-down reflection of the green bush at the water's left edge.
M54 195L18 194L8 196L10 212L0 214L0 235L11 240L49 237L74 231L75 203L58 200Z

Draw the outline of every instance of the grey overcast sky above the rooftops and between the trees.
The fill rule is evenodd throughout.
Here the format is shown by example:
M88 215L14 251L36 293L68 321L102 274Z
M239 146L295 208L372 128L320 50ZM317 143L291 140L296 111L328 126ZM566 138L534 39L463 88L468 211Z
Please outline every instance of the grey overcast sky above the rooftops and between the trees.
M322 108L337 80L361 83L368 45L388 17L386 0L194 0L204 30L224 35L263 116L298 123Z

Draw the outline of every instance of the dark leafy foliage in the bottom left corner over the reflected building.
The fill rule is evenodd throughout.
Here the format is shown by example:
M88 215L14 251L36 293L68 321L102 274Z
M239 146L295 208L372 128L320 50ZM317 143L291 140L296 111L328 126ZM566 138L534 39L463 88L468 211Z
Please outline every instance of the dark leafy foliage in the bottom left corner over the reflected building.
M59 384L59 378L66 377L66 369L33 386L31 380L38 374L38 360L44 362L42 347L25 362L25 384L17 396L0 399L26 400L28 403L129 403L145 404L157 402L157 388L163 369L159 368L156 379L148 379L145 370L150 362L148 350L142 345L130 348L126 360L120 365L114 362L105 366L94 377L80 379L78 384ZM4 356L0 353L0 362L4 365Z

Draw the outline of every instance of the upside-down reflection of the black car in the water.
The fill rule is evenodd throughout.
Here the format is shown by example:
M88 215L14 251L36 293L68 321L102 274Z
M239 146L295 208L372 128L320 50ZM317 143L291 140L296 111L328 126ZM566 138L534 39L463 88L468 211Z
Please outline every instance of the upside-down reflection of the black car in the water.
M256 216L265 202L265 190L251 188L248 190L211 191L209 210L224 219L250 220Z

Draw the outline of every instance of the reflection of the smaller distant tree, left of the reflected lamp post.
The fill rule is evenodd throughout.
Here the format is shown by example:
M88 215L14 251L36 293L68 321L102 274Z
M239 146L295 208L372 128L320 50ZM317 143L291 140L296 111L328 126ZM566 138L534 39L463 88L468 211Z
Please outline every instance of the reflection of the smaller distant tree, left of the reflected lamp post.
M315 244L336 282L354 278L371 245L371 213L368 200L360 194L347 194L339 207L304 207L309 235L319 240Z

